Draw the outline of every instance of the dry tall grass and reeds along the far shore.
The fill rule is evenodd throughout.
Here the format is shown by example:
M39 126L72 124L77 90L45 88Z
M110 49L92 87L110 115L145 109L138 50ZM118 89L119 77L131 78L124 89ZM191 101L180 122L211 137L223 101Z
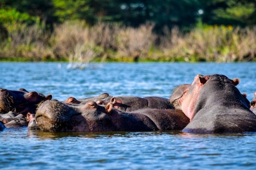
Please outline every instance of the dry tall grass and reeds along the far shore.
M138 28L67 21L52 32L35 24L6 25L0 59L94 61L254 61L256 27L201 26L184 33L179 28L153 32L153 24Z

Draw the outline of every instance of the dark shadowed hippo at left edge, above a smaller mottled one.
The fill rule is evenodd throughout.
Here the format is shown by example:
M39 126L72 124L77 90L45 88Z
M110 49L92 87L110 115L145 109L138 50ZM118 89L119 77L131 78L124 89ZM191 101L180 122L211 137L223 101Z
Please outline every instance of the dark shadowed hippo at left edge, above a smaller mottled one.
M0 88L0 113L14 111L26 116L28 112L35 113L37 105L48 99L52 99L51 94L44 96L35 91L28 92L24 88L19 91Z

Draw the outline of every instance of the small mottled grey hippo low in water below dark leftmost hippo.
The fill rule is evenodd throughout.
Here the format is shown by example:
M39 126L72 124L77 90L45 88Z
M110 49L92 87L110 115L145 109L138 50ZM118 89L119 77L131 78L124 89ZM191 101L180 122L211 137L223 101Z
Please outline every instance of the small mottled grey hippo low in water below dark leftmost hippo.
M9 113L0 114L0 122L2 122L5 127L27 126L29 121L31 121L35 117L31 115L31 113L28 113L25 117L23 114L15 114L12 111L9 111Z

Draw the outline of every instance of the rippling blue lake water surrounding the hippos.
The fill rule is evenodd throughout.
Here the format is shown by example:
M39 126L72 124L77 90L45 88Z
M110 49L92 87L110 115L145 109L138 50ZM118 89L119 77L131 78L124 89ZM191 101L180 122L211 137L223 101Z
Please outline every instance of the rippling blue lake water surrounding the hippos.
M0 63L0 87L52 94L54 99L161 96L197 74L224 74L253 98L256 63ZM256 133L47 133L26 127L0 132L0 169L256 169Z

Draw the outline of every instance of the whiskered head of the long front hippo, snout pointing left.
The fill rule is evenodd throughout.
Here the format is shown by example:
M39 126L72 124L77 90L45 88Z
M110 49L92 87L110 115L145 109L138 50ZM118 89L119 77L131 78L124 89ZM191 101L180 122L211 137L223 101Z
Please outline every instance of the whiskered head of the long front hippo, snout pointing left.
M38 127L46 131L109 131L111 120L101 105L67 105L58 100L47 100L35 115Z

